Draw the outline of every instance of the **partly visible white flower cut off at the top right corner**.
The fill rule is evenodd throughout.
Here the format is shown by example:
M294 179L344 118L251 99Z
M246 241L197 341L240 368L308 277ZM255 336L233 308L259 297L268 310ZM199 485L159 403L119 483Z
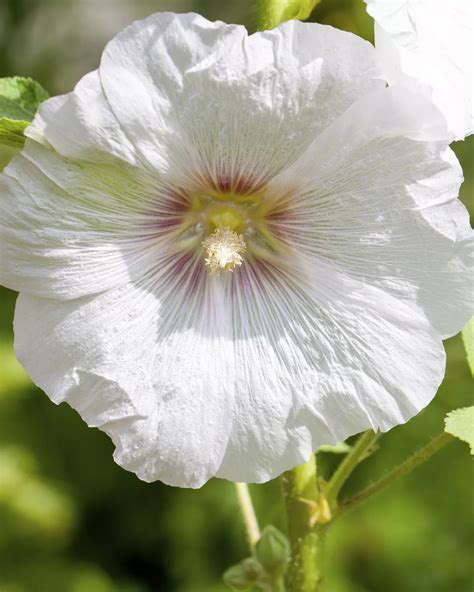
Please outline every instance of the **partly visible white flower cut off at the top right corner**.
M452 139L474 131L473 0L365 0L390 84L431 97Z

